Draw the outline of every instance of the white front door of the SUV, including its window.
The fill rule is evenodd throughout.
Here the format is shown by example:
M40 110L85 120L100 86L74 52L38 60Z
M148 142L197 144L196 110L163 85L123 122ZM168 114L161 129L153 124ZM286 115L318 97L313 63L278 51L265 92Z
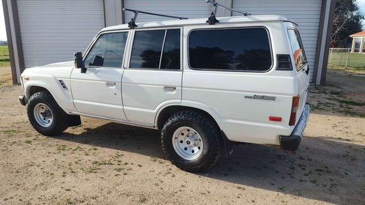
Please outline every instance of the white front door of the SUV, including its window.
M102 33L84 57L86 73L71 74L73 103L84 115L127 120L123 113L123 56L128 31Z

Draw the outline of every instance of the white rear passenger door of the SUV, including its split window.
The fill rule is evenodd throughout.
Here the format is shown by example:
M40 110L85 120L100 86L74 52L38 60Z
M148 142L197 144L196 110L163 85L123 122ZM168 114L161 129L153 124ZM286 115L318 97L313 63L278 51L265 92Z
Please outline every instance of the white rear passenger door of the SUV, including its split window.
M158 109L181 103L181 29L138 29L122 80L130 122L154 124Z

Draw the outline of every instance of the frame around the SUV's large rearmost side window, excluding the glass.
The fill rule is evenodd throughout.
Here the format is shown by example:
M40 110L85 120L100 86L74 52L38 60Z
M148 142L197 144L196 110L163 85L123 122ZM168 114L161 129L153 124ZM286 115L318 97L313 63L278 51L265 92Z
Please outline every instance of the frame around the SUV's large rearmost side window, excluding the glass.
M270 57L271 57L271 65L270 68L268 68L267 70L225 70L225 69L212 69L212 68L192 68L190 66L190 34L193 31L215 31L215 30L227 30L227 29L257 29L257 28L261 28L261 29L265 29L267 36L268 36L268 44L270 47ZM203 29L199 29L199 28L193 28L190 29L190 31L188 32L188 37L186 40L186 44L187 44L187 50L188 50L188 56L186 57L186 59L188 59L188 68L190 70L203 70L203 71L216 71L216 72L254 72L254 73L264 73L264 72L270 72L270 70L273 70L274 64L275 64L275 57L274 57L274 51L273 51L273 43L271 42L271 36L270 36L270 31L267 27L262 26L262 25L257 25L257 26L249 26L249 27L244 27L244 26L237 26L237 27L218 27L218 28L203 28Z

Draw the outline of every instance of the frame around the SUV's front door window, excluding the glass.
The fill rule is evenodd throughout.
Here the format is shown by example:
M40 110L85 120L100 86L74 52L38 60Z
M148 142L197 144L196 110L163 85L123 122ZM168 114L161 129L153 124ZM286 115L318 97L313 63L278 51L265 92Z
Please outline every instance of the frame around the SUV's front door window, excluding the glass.
M103 31L97 34L97 36L95 36L95 38L91 41L91 43L89 44L88 48L86 49L86 51L84 52L84 55L82 56L82 60L85 62L86 56L88 56L88 54L90 53L92 47L95 45L95 43L97 42L97 40L99 40L99 38L103 35L103 34L107 34L107 33L127 33L127 40L125 41L125 47L124 47L124 53L123 53L123 59L122 59L122 66L120 68L118 67L106 67L106 66L88 66L85 65L86 68L108 68L108 69L123 69L123 65L125 62L125 58L127 57L127 49L128 49L128 44L129 44L129 38L131 37L131 32L129 29L123 29L123 30L112 30L112 31Z

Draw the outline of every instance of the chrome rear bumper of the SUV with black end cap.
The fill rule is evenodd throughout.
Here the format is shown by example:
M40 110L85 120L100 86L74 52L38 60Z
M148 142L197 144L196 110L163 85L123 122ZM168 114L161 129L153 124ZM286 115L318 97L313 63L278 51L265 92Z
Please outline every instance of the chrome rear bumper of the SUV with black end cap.
M292 134L289 136L280 136L280 147L284 150L295 151L301 143L301 137L303 136L305 126L307 125L308 118L310 117L310 103L306 102L303 112L297 125L294 127Z

